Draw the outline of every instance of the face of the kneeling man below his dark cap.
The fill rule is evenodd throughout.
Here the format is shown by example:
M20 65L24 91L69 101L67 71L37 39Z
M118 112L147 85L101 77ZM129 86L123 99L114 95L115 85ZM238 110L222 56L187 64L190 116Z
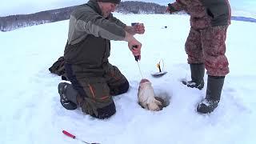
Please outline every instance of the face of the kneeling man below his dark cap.
M98 2L98 6L102 10L103 17L107 18L110 15L110 13L114 12L118 4L111 2Z

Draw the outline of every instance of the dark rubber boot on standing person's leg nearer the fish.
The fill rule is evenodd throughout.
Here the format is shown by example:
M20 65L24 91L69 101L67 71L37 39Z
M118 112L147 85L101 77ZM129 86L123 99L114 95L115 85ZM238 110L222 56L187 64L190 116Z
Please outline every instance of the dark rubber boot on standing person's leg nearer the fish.
M182 81L182 83L191 88L202 90L204 86L203 76L205 74L205 65L203 63L190 64L191 81Z

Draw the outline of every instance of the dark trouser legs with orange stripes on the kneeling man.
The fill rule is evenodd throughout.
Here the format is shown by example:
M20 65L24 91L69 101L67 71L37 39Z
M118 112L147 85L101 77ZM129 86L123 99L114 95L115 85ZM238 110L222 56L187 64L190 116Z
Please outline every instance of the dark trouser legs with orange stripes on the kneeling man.
M74 90L78 91L77 103L82 112L101 119L115 114L112 96L129 89L129 82L118 67L106 63L100 69L102 74L88 74L82 66L70 64L65 64L65 69Z

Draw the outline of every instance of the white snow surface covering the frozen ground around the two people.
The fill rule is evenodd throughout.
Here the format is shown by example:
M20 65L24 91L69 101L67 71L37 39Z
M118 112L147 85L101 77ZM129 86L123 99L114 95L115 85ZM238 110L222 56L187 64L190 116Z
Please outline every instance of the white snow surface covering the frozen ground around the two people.
M140 66L156 94L166 93L170 105L151 112L138 105L141 76L126 42L113 41L110 62L130 82L126 94L114 97L117 113L98 120L78 110L65 110L59 102L58 75L48 68L63 54L68 21L30 26L0 33L0 143L46 144L82 143L68 138L62 130L86 142L102 144L254 144L256 142L255 34L256 23L232 21L226 39L230 74L217 110L197 114L195 106L203 90L179 82L190 78L184 43L190 30L189 16L169 14L114 14L123 22L143 22L146 33L136 35L142 42ZM167 28L164 28L167 26ZM153 78L162 59L168 73ZM206 82L205 75L205 82Z

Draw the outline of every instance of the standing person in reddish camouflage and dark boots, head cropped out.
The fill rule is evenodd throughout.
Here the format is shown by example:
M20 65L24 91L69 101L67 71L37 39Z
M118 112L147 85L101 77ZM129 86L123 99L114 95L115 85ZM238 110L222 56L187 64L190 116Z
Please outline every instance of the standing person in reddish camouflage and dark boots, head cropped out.
M230 4L228 0L176 0L168 4L170 14L180 10L190 14L191 26L185 45L191 81L183 84L202 90L206 68L206 98L198 103L197 111L210 114L218 106L224 79L229 73L225 41L230 25Z

